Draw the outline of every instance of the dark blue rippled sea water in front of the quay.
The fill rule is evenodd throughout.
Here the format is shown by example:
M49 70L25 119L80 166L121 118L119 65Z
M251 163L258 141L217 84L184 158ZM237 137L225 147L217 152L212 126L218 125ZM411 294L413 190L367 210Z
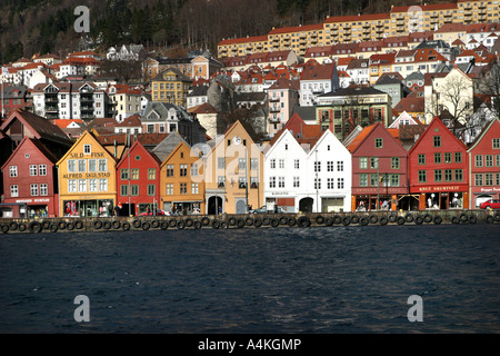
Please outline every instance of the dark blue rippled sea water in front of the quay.
M1 235L0 333L498 333L499 258L498 225Z

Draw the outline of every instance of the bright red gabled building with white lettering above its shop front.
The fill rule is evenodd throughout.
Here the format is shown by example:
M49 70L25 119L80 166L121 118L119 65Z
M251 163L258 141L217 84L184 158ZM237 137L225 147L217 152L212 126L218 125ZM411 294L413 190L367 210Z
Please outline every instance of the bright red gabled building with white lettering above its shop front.
M439 118L432 119L410 157L410 194L419 209L469 208L469 158L463 145Z

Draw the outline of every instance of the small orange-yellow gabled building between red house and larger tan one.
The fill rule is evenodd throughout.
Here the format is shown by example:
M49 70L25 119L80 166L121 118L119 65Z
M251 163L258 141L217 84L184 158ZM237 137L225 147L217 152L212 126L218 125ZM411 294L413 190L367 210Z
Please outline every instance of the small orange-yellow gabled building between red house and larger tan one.
M199 150L181 141L160 166L160 201L166 211L204 214L203 165Z

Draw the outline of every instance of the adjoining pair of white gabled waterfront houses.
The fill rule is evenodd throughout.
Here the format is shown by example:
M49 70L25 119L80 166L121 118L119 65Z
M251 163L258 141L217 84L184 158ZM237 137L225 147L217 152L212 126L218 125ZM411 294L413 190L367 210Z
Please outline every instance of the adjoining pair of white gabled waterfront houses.
M268 210L334 212L351 209L351 154L330 131L300 144L284 129L264 155ZM313 141L310 141L311 144Z

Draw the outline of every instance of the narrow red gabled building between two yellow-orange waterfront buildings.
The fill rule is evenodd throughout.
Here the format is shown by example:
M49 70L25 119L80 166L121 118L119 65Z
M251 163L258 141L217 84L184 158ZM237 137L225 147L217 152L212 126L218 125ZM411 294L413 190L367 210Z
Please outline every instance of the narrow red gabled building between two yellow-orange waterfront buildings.
M160 206L160 161L138 140L117 165L120 216L153 212Z

